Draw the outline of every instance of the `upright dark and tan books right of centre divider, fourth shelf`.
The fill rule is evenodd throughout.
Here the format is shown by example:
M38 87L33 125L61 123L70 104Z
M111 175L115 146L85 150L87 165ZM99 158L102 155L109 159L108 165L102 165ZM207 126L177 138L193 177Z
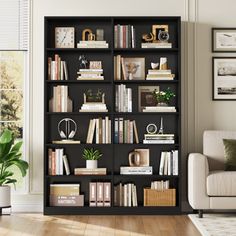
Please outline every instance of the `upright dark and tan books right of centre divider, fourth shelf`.
M139 143L135 120L115 118L114 143Z

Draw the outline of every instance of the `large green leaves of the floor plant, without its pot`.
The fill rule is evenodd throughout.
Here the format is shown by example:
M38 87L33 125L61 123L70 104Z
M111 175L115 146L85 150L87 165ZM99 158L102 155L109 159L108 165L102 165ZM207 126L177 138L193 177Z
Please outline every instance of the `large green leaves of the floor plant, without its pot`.
M22 177L27 173L28 163L22 160L22 141L14 142L14 136L8 129L4 130L0 137L0 186L17 182L14 178L12 167L17 167Z

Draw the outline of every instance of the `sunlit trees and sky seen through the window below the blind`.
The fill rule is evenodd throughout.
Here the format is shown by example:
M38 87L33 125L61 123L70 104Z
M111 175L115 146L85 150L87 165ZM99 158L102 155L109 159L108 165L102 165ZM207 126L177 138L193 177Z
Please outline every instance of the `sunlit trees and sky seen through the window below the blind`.
M22 138L23 73L22 52L0 52L0 132L8 128Z

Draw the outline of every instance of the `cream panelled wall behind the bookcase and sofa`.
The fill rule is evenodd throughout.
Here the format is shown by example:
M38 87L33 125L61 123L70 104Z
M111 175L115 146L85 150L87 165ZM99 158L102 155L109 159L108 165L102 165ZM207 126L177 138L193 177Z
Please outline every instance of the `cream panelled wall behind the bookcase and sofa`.
M44 16L181 16L184 148L182 166L183 178L186 179L186 154L201 151L203 130L236 129L235 102L211 100L211 27L235 27L235 8L234 0L34 0L30 186L32 196L39 194L35 195L38 199L43 190ZM183 196L186 201L185 183ZM42 198L39 199L38 201L42 201ZM185 202L184 209L187 209L186 207Z

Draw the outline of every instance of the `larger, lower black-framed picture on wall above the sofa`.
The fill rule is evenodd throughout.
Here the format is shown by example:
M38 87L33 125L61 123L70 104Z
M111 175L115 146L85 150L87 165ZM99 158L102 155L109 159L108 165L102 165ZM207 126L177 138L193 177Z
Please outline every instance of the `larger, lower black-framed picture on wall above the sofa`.
M212 100L236 100L236 57L213 57L212 77Z

